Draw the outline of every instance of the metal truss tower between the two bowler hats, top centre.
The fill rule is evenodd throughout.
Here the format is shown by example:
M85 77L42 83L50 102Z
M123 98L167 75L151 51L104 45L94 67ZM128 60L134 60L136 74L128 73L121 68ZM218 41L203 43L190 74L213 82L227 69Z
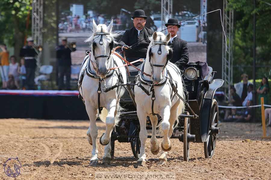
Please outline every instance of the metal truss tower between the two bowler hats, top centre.
M161 0L161 28L162 29L164 29L167 20L173 17L172 8L173 8L173 0ZM166 33L166 32L163 32L163 33Z

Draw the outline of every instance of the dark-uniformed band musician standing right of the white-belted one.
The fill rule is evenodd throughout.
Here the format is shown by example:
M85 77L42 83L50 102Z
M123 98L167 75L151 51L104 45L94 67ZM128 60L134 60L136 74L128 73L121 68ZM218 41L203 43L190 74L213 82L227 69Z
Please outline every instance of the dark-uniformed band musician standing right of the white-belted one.
M56 46L57 60L58 60L58 90L64 87L64 75L66 75L66 89L70 90L70 53L76 51L76 48L67 43L66 37L61 37L61 45Z

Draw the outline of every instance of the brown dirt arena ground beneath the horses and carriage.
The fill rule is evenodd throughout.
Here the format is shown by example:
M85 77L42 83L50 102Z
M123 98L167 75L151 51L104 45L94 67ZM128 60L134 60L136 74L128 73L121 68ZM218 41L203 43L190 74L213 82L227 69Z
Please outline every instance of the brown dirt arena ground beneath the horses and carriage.
M98 138L105 130L99 126ZM173 139L165 165L157 165L160 153L151 154L146 143L147 166L136 167L130 143L115 141L115 158L90 166L92 146L87 141L89 121L0 119L0 179L95 179L95 172L175 172L176 179L271 179L271 140L259 139L261 124L220 123L212 159L204 158L203 143L190 144L190 161L183 161L183 143ZM267 136L271 128L266 128ZM250 139L251 141L242 142ZM159 139L161 142L161 139ZM159 143L160 144L160 143ZM4 164L18 158L22 167L16 178L8 177Z

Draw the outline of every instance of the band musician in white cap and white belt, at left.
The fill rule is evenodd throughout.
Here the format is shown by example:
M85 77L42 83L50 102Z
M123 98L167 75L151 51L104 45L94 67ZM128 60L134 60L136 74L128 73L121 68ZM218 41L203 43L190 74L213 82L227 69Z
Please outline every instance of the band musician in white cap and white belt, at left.
M34 90L34 79L35 79L35 70L36 70L36 58L35 56L38 54L33 48L33 38L27 38L27 45L23 46L20 50L20 56L25 59L25 67L26 67L26 80L25 80L25 88L26 90Z

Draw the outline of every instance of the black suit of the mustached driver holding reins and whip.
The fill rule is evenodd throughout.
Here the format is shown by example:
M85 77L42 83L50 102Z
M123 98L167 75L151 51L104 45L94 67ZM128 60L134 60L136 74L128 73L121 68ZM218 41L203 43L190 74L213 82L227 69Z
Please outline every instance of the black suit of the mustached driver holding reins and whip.
M138 36L138 31L135 27L132 27L131 29L127 29L119 41L120 46L124 46L124 45L132 46L133 44L136 44L137 42L145 38L147 39L132 46L131 50L125 52L126 58L131 59L131 60L146 58L148 46L151 42L148 39L148 37L152 36L153 33L154 33L153 30L144 27L140 31L139 36Z

